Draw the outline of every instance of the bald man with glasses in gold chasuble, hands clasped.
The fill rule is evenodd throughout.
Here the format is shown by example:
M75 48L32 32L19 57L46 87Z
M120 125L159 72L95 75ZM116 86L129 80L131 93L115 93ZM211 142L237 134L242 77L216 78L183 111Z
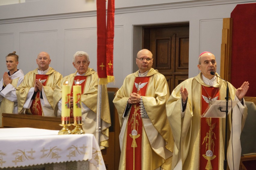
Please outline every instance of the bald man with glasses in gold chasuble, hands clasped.
M119 169L170 169L173 138L166 116L166 78L153 64L151 51L138 52L139 71L128 75L113 100L121 126Z

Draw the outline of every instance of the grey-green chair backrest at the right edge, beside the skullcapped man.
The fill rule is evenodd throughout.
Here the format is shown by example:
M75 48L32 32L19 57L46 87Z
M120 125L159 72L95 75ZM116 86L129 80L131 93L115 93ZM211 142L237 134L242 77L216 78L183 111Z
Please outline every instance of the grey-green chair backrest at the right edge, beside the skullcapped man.
M251 101L245 101L245 104L248 115L240 136L242 154L256 153L256 105Z

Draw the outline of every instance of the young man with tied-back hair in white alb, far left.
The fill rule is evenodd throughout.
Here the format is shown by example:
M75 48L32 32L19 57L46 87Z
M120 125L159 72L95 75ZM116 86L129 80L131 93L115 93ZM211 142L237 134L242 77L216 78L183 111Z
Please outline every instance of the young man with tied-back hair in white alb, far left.
M9 70L5 72L0 82L0 127L2 126L2 113L18 113L16 88L24 78L22 70L18 70L19 56L16 51L6 57L6 66Z

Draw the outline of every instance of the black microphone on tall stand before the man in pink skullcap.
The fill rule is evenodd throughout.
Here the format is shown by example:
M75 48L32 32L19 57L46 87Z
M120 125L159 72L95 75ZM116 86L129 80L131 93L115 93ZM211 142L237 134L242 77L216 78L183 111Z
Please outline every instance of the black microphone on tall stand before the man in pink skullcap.
M211 75L216 75L215 72L211 71ZM216 75L217 77L219 77L218 75ZM221 77L219 77L221 78ZM223 78L221 78L222 80L224 80ZM224 80L226 81L226 80ZM227 81L226 81L227 83ZM226 110L223 111L220 108L221 112L226 112L226 126L225 126L225 150L224 150L224 170L227 170L227 114L228 114L228 92L229 92L229 88L228 88L228 83L227 83L227 91L226 91Z

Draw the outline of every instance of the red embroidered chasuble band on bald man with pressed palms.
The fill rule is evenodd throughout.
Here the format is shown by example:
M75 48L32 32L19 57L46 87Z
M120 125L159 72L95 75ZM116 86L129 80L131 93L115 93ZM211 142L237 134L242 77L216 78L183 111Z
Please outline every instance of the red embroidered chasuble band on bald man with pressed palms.
M45 86L47 84L48 76L49 75L35 75L35 79L38 79L43 84L43 86ZM40 101L40 93L41 92L38 90L35 95L35 98L32 100L32 104L30 106L30 111L32 115L43 116L43 110Z

